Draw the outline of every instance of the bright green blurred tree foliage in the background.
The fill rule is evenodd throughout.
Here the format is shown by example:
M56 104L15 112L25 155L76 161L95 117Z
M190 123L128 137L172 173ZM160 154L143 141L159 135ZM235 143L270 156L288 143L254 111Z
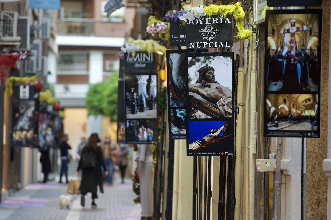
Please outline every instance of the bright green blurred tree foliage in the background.
M85 102L88 115L104 115L117 120L118 72L109 80L90 85Z

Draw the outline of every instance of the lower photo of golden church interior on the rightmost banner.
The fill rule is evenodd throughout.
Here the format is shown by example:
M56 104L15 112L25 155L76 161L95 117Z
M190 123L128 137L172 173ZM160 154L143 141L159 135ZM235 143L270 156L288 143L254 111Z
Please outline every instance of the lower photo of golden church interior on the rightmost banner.
M317 95L268 94L266 101L268 130L317 130Z

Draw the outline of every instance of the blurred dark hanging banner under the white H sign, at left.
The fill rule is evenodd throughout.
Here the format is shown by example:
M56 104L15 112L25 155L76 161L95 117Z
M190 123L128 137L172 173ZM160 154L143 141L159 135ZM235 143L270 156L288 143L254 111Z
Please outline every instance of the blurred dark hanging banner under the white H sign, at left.
M27 89L28 88L28 89ZM20 97L26 89L29 91L24 95L23 99L13 100L13 146L14 147L28 147L34 146L35 142L35 99L34 86L26 85L22 87L23 91L20 93L21 86L15 86L14 97Z

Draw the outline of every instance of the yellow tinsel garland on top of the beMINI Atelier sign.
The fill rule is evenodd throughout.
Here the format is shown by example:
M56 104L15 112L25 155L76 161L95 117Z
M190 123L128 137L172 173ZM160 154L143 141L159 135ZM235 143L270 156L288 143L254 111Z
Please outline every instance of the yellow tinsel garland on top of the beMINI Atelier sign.
M140 52L147 51L149 53L157 53L158 51L166 54L166 47L160 45L157 41L154 40L134 40L133 38L127 38L125 43L140 45L142 48L139 50ZM135 54L134 51L131 52L133 55Z

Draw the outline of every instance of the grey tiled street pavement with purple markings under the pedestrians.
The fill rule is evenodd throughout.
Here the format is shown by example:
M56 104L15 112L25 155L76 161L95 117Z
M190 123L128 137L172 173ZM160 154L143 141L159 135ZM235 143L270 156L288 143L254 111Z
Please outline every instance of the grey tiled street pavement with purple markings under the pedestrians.
M0 220L138 220L141 206L134 204L132 181L118 181L105 186L105 193L98 193L97 209L91 209L91 194L85 199L85 208L80 206L80 196L73 196L70 209L59 207L59 197L66 192L66 184L50 182L31 184L15 192L0 206ZM8 205L10 204L10 205ZM19 206L12 206L19 205ZM27 207L26 207L27 206ZM35 207L36 206L36 207Z

